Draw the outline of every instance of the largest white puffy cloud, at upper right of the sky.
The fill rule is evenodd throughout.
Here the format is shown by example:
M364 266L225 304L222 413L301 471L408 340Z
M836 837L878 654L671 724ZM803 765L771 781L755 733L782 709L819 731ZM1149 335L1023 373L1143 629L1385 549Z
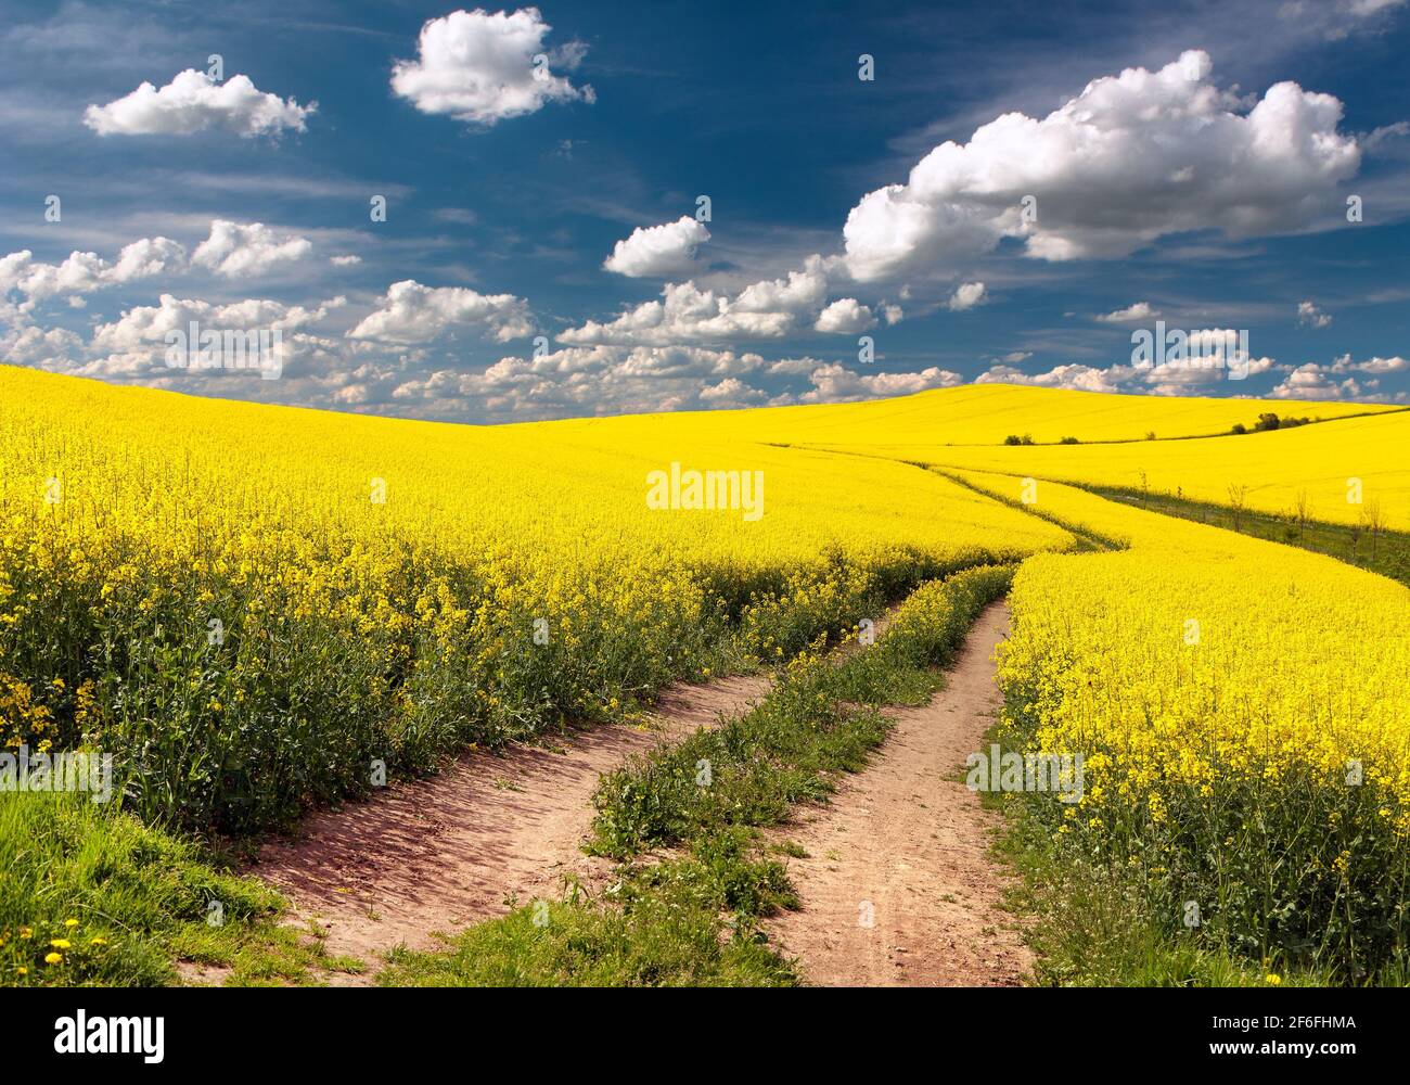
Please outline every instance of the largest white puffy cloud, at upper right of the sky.
M1022 238L1038 260L1122 257L1189 230L1293 233L1323 220L1361 150L1331 95L1276 83L1251 109L1190 51L1096 79L1042 120L1022 113L946 141L905 183L867 193L846 262L876 281Z

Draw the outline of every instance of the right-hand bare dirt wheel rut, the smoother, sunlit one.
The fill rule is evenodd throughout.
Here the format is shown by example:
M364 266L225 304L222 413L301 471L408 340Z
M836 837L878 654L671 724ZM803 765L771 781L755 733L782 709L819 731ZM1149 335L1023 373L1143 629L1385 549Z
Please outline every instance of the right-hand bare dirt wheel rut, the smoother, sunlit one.
M871 763L780 831L808 858L788 861L801 910L768 933L807 982L990 986L1028 972L1014 919L995 906L1004 879L987 852L997 816L956 782L1001 704L991 655L1007 631L1005 605L993 604L946 687L925 707L888 710L895 728Z

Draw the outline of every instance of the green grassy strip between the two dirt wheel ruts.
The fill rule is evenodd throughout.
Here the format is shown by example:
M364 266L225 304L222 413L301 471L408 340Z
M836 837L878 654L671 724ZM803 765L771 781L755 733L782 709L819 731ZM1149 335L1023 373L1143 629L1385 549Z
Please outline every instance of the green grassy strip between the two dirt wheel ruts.
M605 899L570 887L471 927L443 951L392 954L402 985L780 986L801 981L760 920L792 903L757 830L826 799L890 727L881 704L924 701L1012 570L980 567L918 588L866 652L802 653L752 713L605 776L592 848L622 862ZM666 852L666 858L663 856Z

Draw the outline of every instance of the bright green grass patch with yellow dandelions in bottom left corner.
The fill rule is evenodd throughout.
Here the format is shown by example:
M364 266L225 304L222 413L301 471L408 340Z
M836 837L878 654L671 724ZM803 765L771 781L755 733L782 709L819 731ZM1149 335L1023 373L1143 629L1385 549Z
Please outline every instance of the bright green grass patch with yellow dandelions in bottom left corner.
M233 983L354 966L281 926L283 902L264 883L89 796L0 793L0 871L4 986L157 986L179 981L175 959ZM51 952L62 959L47 962Z

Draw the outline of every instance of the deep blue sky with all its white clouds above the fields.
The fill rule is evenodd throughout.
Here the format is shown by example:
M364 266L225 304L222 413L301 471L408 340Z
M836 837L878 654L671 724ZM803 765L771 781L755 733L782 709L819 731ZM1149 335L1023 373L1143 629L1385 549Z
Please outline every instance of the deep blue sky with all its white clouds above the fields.
M1406 0L0 27L16 364L470 422L976 380L1410 396ZM279 378L171 368L192 320L278 329ZM1156 320L1246 356L1134 365Z

